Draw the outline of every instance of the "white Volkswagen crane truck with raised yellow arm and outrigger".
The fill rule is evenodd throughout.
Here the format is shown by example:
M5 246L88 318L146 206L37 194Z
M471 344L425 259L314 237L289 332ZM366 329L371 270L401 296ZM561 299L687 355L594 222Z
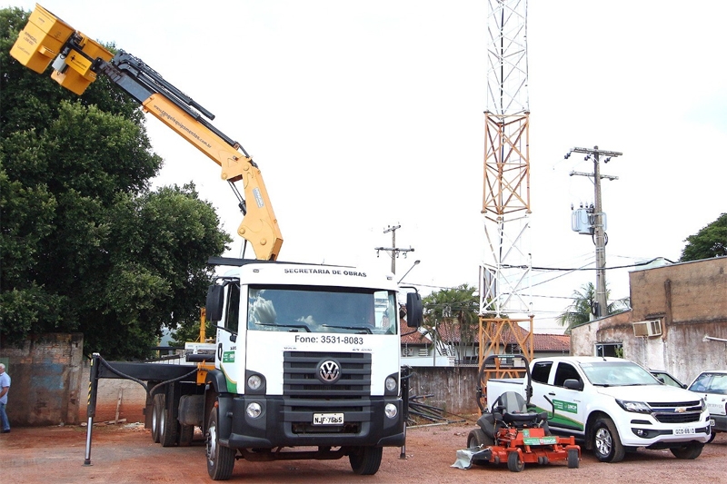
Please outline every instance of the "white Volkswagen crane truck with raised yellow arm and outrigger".
M214 116L134 55L102 45L36 5L11 55L82 94L105 75L174 132L242 182L237 232L256 259L210 260L231 269L216 278L206 317L216 321L213 351L195 365L108 362L95 354L89 385L85 464L99 378L129 378L147 390L146 420L155 442L185 445L204 433L212 479L232 476L235 459L340 459L374 474L386 446L405 441L406 379L399 320L423 317L420 295L393 274L345 266L278 262L283 243L257 165L240 143L204 118ZM250 201L248 204L246 201Z

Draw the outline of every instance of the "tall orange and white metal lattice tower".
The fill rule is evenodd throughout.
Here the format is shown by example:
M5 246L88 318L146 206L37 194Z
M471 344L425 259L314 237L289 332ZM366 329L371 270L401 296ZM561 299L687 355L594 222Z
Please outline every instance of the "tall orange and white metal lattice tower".
M484 132L485 250L480 266L480 374L510 376L498 359L483 361L515 342L533 357L530 222L530 109L527 1L489 0L487 105ZM529 323L523 334L519 323ZM509 334L508 334L509 333ZM492 368L491 368L492 367Z

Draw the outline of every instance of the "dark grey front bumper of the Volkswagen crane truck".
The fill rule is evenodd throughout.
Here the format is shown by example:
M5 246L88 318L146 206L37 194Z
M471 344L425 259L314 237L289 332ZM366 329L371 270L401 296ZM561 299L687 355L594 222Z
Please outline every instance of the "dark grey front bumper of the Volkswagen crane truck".
M262 411L256 418L247 413L251 403ZM384 411L396 408L393 418ZM404 444L402 400L371 397L355 400L300 400L286 397L239 396L220 399L223 445L237 449L276 447L401 447ZM315 425L314 414L343 414L342 425ZM234 417L233 417L234 416ZM222 421L221 421L222 423ZM229 435L224 435L229 429Z

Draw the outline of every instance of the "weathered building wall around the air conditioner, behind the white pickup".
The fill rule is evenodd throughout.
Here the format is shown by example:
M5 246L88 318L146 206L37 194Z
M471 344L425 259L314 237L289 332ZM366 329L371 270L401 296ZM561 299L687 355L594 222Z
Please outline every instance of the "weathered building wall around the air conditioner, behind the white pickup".
M702 370L723 369L727 345L727 257L682 262L629 274L632 311L573 328L574 355L596 343L622 343L623 357L667 370L689 383ZM633 322L658 320L662 334L637 337Z

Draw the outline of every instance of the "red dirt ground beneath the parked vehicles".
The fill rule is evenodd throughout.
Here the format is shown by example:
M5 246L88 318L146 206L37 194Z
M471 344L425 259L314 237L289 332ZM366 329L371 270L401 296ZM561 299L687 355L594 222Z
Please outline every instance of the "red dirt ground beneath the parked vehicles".
M596 483L724 482L727 476L727 434L717 436L695 460L679 460L668 450L640 450L617 464L598 462L583 452L579 469L564 462L546 466L527 464L513 473L506 465L452 468L457 449L463 449L473 421L443 426L415 427L408 431L406 459L401 449L383 451L381 469L374 476L356 476L348 459L248 462L238 460L230 482L254 483L386 483L405 482L482 484L498 482ZM13 484L69 484L94 482L193 484L211 482L204 464L204 443L196 436L191 447L163 448L154 444L141 424L95 426L91 466L84 465L84 427L14 428L0 434L0 482Z

